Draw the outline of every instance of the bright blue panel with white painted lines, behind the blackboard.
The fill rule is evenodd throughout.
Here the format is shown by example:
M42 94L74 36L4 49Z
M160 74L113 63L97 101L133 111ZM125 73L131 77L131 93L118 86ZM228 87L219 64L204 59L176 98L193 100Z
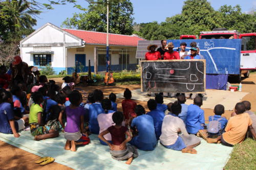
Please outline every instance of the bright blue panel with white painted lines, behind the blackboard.
M200 54L206 59L206 74L240 74L241 39L193 39L167 40L173 42L175 49L181 42L197 42Z

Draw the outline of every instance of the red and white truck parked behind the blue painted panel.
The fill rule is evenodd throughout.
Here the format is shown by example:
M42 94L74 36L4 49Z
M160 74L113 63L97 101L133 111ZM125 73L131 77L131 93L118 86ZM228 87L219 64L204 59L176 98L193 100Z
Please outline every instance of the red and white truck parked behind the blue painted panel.
M197 36L181 35L180 39L197 39ZM240 34L237 30L218 28L200 32L199 39L242 39L240 75L237 76L237 81L241 81L241 75L249 77L249 70L256 69L256 33Z

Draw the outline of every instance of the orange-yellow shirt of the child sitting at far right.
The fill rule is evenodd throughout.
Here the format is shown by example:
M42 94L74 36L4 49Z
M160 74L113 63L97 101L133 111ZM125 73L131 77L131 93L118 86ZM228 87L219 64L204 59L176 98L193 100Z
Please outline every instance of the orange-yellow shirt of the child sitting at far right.
M230 144L241 143L247 132L248 126L251 125L251 118L248 113L238 114L230 117L222 134L223 139Z

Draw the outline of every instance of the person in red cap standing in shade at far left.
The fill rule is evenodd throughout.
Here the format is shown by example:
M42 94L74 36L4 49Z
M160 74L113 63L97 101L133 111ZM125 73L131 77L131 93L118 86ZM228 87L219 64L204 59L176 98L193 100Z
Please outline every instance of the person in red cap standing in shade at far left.
M12 85L17 85L20 82L27 83L29 75L29 66L22 61L20 56L15 56L14 61L11 63L11 79Z

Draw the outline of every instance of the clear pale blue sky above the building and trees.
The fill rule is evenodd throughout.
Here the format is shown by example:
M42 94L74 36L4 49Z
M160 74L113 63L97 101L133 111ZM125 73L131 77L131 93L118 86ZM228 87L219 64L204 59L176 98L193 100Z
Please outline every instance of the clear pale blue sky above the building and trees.
M134 22L137 23L152 21L160 23L164 21L166 17L180 14L184 4L184 1L181 0L161 1L162 3L156 0L131 0L131 2L134 7ZM252 8L256 9L255 0L208 0L208 2L210 2L215 10L218 10L223 5L235 6L237 4L241 6L242 12L245 13L251 11ZM84 0L77 0L77 3L84 8L88 7L88 3ZM37 25L33 28L38 29L47 22L60 27L66 18L73 16L73 13L82 12L77 8L73 8L73 6L74 4L54 5L53 10L44 11L36 18Z

